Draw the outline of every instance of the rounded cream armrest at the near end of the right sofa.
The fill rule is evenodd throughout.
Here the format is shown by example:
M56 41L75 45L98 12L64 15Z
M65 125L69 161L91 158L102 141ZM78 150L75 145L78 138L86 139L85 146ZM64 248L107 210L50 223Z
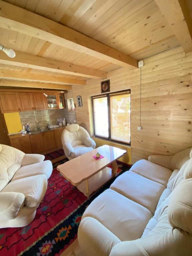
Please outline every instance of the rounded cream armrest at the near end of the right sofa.
M85 217L78 228L78 242L85 255L108 256L121 241L98 220Z

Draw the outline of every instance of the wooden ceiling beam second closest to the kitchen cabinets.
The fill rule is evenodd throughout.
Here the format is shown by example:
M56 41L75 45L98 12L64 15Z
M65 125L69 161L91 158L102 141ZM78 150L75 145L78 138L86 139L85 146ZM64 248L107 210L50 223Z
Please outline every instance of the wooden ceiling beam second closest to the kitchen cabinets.
M74 78L45 75L39 73L27 73L22 71L15 71L9 69L0 69L0 78L12 79L12 80L23 80L23 81L34 81L54 84L66 84L66 85L86 85L85 80L78 80Z

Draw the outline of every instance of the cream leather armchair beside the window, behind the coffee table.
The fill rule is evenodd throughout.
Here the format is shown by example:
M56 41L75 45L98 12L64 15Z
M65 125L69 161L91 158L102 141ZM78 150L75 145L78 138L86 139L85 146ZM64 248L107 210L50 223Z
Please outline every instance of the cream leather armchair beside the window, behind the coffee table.
M90 138L89 133L78 124L66 126L62 132L61 141L64 153L69 160L81 156L96 147L96 143Z

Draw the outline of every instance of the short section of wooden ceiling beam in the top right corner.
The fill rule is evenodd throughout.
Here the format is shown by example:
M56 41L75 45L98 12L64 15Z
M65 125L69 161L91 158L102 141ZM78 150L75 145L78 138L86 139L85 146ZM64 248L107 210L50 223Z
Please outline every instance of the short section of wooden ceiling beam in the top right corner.
M185 53L192 51L192 21L184 0L155 0Z

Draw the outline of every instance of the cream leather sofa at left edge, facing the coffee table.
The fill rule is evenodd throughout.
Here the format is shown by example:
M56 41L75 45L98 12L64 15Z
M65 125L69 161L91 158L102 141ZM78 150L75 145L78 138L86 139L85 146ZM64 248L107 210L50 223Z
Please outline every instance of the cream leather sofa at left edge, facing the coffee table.
M34 219L53 170L44 158L0 144L0 228L23 227Z

